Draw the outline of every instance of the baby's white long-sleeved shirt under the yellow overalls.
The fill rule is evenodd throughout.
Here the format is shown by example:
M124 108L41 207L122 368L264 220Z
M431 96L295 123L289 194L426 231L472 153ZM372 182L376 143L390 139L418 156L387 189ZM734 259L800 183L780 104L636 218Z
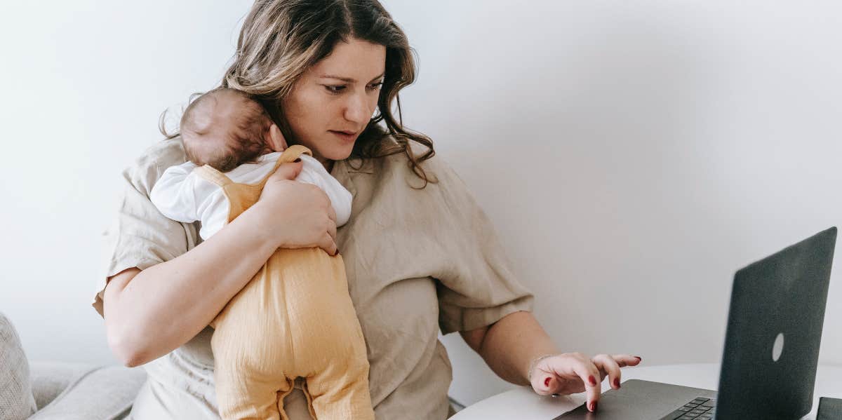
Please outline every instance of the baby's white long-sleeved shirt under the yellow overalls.
M257 158L257 163L243 163L225 175L235 183L259 183L272 170L280 154L265 154ZM322 189L328 194L336 212L336 226L347 223L351 216L351 193L316 158L302 154L301 161L304 167L296 181L312 183ZM149 199L163 215L173 221L201 221L199 236L205 240L225 226L229 205L222 188L194 173L195 168L193 162L168 167L152 187Z

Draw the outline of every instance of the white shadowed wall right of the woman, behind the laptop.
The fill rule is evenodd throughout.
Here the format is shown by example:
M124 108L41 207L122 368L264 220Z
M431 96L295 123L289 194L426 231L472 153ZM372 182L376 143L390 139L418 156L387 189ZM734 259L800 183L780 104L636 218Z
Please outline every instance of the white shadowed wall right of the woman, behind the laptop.
M420 56L405 122L477 194L562 348L719 361L734 271L842 223L842 6L525 4L390 3ZM821 360L842 364L831 282ZM462 401L509 386L446 339Z

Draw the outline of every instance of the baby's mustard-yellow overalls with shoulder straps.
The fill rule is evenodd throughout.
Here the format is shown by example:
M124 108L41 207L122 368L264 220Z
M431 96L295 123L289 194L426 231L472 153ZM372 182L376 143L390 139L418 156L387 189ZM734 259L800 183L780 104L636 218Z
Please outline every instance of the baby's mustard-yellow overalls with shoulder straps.
M312 156L304 146L290 146L274 170L301 153ZM222 188L229 223L258 201L274 173L244 184L209 166L196 170ZM298 376L306 380L314 418L374 419L365 341L340 255L318 247L277 249L210 326L223 419L288 420L283 399Z

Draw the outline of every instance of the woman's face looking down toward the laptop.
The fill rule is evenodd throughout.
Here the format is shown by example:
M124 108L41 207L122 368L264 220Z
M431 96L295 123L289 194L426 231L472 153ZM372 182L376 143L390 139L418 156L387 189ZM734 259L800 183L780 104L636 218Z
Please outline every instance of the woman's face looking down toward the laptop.
M325 164L349 157L374 114L385 71L385 46L339 42L281 101L295 142Z

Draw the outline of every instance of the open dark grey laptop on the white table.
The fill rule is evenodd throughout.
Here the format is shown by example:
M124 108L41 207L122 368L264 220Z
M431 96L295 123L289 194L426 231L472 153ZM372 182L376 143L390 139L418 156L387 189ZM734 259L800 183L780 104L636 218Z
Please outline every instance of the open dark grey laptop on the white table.
M719 392L626 380L553 420L795 420L813 406L836 227L734 274Z

